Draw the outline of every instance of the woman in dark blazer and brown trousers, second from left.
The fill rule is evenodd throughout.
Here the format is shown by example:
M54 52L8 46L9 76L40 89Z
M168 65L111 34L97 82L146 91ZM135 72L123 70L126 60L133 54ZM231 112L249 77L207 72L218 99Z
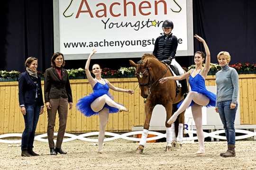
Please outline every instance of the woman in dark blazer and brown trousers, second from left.
M60 52L54 53L51 63L52 68L46 69L45 72L45 102L48 113L47 136L51 155L66 154L61 149L61 145L66 129L68 104L69 109L72 109L73 106L72 92L67 71L63 68L65 65L64 55ZM55 146L54 126L57 111L59 114L59 131Z

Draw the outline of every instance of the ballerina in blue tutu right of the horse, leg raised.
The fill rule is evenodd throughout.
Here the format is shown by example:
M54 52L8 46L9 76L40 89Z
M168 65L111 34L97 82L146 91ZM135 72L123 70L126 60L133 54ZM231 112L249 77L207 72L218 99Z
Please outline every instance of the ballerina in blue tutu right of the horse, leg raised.
M188 93L184 101L179 106L178 110L174 112L172 117L167 121L168 124L173 124L177 119L178 115L186 110L189 106L192 106L192 115L196 125L196 132L199 142L199 151L196 154L201 154L205 152L204 149L204 135L202 130L202 106L215 107L216 95L206 90L205 78L210 70L210 50L200 36L197 34L194 36L198 41L203 43L204 49L206 51L205 55L201 51L195 52L194 62L196 65L195 69L190 69L187 73L182 76L169 76L164 77L159 80L160 83L165 83L167 80L183 80L189 77L189 84L191 91ZM205 66L202 63L205 59Z

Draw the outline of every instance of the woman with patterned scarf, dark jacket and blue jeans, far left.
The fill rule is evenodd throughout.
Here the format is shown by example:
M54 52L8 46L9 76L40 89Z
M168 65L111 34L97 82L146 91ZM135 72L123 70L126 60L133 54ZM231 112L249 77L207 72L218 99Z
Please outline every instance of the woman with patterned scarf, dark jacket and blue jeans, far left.
M37 75L37 58L29 57L25 62L26 71L18 77L18 100L25 120L21 137L21 156L38 156L33 143L39 114L44 112L41 78Z

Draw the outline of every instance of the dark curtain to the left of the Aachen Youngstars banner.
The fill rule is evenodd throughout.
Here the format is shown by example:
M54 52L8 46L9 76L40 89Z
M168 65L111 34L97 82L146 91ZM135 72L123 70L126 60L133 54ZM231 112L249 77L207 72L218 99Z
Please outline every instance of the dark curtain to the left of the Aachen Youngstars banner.
M53 0L1 0L0 70L24 70L27 57L38 58L38 70L53 54Z

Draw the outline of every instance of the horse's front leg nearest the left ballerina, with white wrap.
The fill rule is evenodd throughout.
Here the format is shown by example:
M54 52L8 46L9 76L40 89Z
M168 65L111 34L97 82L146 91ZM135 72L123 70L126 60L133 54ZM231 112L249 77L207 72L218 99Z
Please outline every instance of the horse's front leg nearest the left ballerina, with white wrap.
M149 123L151 120L153 109L154 109L154 107L153 107L152 103L150 102L150 100L146 100L146 104L145 104L145 114L146 115L145 115L144 128L143 128L143 132L142 132L139 146L137 147L136 153L143 153L144 147L146 145L146 138L147 138L147 134L148 134Z

